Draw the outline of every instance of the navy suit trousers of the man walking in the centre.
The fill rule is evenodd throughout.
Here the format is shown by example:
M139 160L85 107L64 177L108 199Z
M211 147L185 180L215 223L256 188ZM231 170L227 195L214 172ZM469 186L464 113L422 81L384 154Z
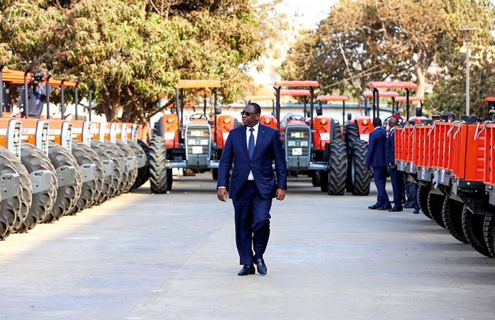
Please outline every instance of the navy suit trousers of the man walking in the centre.
M263 258L270 238L272 199L259 194L254 181L245 181L236 199L236 245L241 265L252 265L254 258ZM254 256L252 249L254 249Z

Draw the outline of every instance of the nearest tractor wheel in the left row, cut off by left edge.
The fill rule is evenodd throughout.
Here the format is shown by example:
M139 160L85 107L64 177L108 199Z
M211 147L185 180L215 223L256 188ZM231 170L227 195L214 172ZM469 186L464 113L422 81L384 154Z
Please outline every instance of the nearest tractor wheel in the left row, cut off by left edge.
M15 165L9 160L7 154L10 151L5 148L0 150L0 175L12 175L19 174L15 170ZM14 156L15 157L15 156ZM19 175L20 176L20 175ZM0 202L0 239L7 238L17 222L21 219L22 209L22 193L21 186L18 186L17 195L8 199L1 199Z

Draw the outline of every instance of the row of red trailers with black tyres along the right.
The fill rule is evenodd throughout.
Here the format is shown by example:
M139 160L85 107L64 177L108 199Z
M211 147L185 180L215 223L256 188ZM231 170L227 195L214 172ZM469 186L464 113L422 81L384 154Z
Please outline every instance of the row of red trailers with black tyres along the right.
M495 98L487 98L487 102ZM460 242L495 257L495 123L420 119L395 130L398 169L419 184L422 212Z

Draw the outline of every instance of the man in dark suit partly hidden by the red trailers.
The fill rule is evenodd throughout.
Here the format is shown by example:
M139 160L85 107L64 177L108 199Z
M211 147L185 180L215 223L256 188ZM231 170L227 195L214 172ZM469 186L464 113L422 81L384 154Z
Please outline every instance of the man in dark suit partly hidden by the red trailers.
M388 121L390 133L388 134L387 141L385 141L385 157L387 158L388 168L390 168L390 181L392 181L392 190L394 191L394 207L388 209L388 211L402 211L402 173L397 171L395 163L394 132L397 125L399 125L399 121L392 116Z

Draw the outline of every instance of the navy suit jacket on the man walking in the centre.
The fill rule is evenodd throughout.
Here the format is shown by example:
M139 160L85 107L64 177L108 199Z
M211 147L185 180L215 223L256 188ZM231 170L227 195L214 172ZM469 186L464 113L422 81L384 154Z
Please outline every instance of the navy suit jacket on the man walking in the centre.
M277 179L273 173L273 161L275 161ZM230 184L227 185L232 163L234 163L234 170L232 170ZM236 199L248 179L250 170L259 193L266 199L276 197L277 188L287 188L285 152L277 130L259 125L252 159L248 154L246 127L243 125L230 131L218 164L217 188L220 186L229 188L229 198Z

